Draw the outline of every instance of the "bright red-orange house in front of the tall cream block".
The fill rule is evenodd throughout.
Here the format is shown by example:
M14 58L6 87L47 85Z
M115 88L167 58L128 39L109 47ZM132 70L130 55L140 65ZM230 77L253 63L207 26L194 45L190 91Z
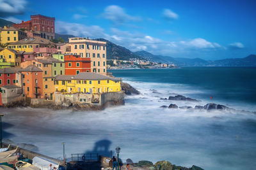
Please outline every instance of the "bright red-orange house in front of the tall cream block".
M90 58L83 58L79 55L65 55L65 75L76 75L81 72L91 71Z

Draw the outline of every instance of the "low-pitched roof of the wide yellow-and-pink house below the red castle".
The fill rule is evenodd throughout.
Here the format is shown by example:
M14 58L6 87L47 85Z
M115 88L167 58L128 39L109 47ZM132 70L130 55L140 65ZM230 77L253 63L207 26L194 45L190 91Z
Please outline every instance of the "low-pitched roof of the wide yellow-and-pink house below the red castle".
M34 38L24 38L24 39L21 39L20 41L10 43L10 45L26 45L26 44L55 45L55 43L52 43L52 41L49 41L48 39L40 38L38 36L35 36Z

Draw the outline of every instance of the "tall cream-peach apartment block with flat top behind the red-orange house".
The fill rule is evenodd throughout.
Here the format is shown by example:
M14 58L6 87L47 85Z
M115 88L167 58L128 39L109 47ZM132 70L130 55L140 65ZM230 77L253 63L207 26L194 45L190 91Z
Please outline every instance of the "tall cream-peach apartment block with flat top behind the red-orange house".
M106 42L95 41L88 38L68 38L68 41L70 45L70 53L91 60L92 64L90 72L106 75Z

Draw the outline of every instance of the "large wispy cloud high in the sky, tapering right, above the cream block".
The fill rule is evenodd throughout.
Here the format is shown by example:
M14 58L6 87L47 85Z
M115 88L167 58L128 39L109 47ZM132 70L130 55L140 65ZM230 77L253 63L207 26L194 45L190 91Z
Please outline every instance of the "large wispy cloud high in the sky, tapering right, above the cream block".
M108 20L111 20L115 24L124 24L125 22L129 21L140 21L140 17L133 17L128 15L124 8L116 5L107 6L104 10L102 16Z

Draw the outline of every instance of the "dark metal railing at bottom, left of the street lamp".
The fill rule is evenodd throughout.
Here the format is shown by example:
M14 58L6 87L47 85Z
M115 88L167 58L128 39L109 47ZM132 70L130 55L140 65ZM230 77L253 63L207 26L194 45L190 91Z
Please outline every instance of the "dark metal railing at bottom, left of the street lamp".
M72 153L71 154L72 161L77 162L98 162L99 154L98 153Z

